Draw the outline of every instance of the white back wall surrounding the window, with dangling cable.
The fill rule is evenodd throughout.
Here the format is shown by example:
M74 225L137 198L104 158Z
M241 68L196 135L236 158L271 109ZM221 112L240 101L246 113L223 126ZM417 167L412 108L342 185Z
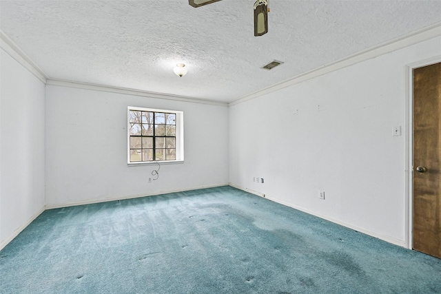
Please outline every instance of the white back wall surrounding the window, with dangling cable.
M127 106L184 112L185 162L127 166ZM228 108L46 86L46 204L152 195L228 184Z

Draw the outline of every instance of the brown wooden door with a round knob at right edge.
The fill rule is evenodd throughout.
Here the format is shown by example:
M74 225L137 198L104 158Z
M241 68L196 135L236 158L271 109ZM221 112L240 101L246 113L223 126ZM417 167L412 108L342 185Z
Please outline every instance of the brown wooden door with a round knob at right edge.
M441 258L441 63L413 70L413 249Z

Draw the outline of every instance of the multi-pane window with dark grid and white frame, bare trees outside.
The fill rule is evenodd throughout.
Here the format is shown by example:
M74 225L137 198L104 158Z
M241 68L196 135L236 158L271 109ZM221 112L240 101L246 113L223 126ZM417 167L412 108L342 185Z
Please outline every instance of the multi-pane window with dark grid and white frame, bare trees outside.
M127 107L127 118L127 163L183 161L183 112Z

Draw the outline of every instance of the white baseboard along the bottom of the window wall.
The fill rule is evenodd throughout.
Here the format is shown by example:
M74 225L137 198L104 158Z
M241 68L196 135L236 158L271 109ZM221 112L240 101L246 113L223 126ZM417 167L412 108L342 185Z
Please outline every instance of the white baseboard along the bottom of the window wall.
M228 186L228 184L225 183L225 184L220 184L220 185L209 185L209 186L194 187L194 188L189 188L189 189L157 191L154 193L139 193L139 194L126 195L126 196L115 196L112 198L85 200L85 201L79 201L79 202L68 202L68 203L62 203L62 204L46 204L46 209L57 209L57 208L63 208L63 207L95 204L95 203L110 202L110 201L116 201L116 200L142 198L142 197L156 196L156 195L167 194L167 193L185 192L185 191L208 189L208 188L223 187L223 186Z

